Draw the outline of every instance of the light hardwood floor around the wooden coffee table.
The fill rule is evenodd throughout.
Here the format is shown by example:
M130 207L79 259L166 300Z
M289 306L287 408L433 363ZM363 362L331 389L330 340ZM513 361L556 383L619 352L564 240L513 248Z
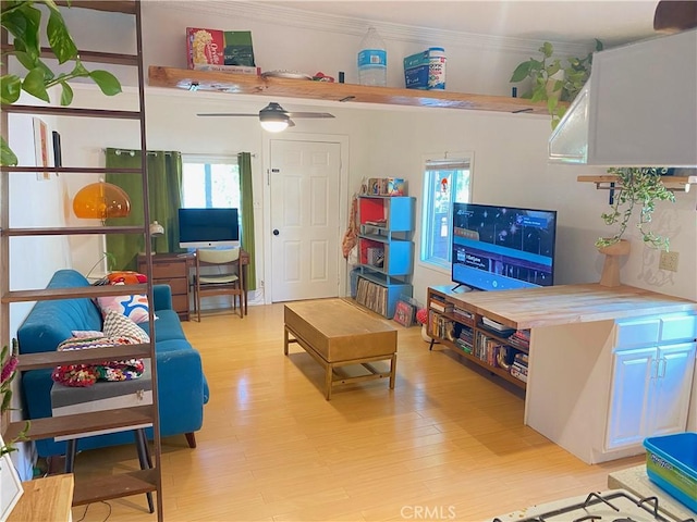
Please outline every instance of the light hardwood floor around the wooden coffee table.
M643 457L587 465L523 425L521 393L429 352L399 328L396 386L372 381L321 390L323 371L296 345L283 356L283 306L184 322L210 386L198 447L163 439L167 521L491 520L607 489L611 471ZM77 456L75 480L137 469L135 448ZM145 496L73 508L73 520L156 520ZM420 510L420 511L419 511ZM420 517L418 515L420 513ZM424 513L429 513L426 517Z

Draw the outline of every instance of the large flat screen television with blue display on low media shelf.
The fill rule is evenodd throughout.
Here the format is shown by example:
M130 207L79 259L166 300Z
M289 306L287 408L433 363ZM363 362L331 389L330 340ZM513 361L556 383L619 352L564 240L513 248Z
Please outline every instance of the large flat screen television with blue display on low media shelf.
M452 279L479 290L554 284L557 211L453 203Z

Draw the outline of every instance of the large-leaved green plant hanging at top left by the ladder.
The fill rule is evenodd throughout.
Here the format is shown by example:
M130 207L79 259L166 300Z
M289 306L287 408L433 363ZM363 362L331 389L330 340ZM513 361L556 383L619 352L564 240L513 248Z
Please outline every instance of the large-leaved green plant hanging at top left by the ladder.
M69 73L56 74L41 60L41 10L35 4L48 8L49 18L46 24L46 38L51 51L60 64L73 62ZM88 71L80 60L77 47L65 26L63 16L53 0L8 0L2 2L1 25L12 35L13 48L2 51L2 62L7 63L14 55L25 70L24 78L16 74L0 77L0 99L2 103L12 104L20 99L22 90L50 103L48 90L60 85L62 88L60 104L70 105L73 101L73 89L68 82L85 77L91 79L107 96L121 92L121 84L114 75L107 71ZM17 158L10 149L4 137L0 137L0 164L16 165Z

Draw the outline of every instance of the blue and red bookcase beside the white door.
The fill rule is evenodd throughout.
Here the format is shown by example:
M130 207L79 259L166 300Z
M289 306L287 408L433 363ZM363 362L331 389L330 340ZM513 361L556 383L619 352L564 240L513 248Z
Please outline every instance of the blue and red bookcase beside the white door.
M356 301L392 318L400 297L412 297L415 199L408 196L358 197Z

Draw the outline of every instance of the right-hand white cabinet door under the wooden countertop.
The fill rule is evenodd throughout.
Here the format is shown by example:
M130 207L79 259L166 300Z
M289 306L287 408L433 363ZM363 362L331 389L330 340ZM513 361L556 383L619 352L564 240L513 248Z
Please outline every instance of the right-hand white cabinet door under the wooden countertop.
M685 431L695 370L695 343L660 346L647 436Z

